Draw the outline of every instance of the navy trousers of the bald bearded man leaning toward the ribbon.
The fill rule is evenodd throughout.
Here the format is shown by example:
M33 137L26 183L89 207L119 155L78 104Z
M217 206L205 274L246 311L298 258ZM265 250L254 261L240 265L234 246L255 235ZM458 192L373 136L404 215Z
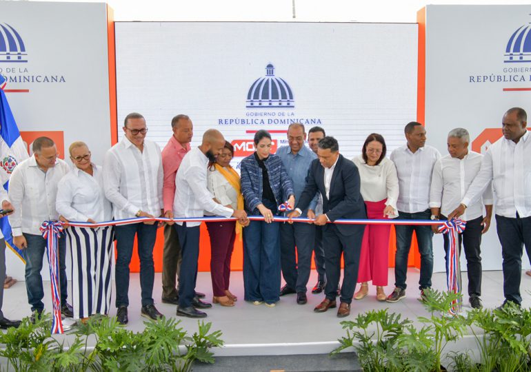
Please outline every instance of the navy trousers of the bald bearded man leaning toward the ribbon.
M186 223L173 225L181 243L181 272L179 273L179 307L192 306L197 280L199 258L199 226L187 227Z

